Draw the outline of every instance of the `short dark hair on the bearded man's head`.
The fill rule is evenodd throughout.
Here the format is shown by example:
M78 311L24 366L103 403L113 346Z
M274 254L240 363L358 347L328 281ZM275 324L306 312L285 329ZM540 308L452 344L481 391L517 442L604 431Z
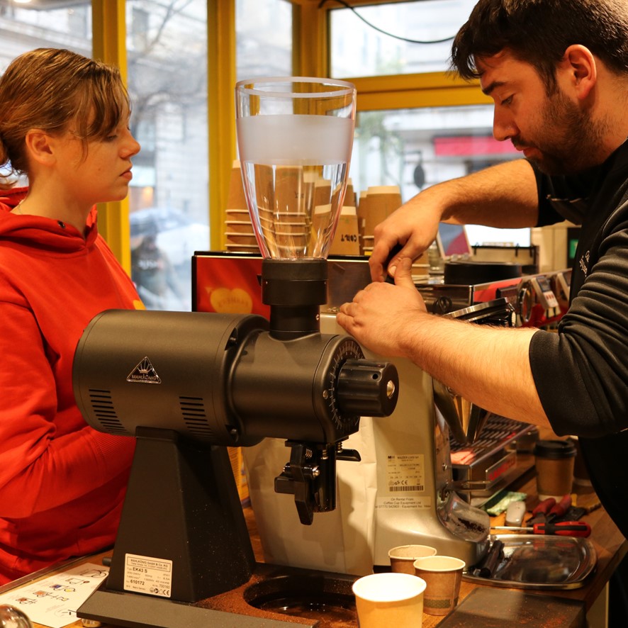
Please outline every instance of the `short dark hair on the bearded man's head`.
M454 39L451 65L464 79L478 78L478 57L508 49L551 93L556 65L574 44L628 74L628 0L479 0Z

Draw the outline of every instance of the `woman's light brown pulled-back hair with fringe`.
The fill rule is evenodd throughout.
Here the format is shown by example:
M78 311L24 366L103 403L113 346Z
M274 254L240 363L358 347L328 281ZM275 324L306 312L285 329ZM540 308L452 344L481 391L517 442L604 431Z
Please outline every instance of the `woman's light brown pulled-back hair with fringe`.
M70 50L25 52L0 77L2 178L28 175L28 130L60 134L71 129L84 142L86 155L87 142L111 135L129 113L130 102L118 68Z

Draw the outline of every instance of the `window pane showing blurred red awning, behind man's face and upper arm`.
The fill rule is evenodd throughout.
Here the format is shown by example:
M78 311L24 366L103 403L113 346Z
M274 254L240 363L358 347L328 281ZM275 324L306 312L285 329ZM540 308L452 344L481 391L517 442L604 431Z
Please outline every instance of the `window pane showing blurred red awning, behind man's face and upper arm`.
M349 176L358 195L394 185L405 202L434 184L518 158L510 142L493 138L492 105L362 111ZM529 229L469 225L467 233L471 245L530 244Z

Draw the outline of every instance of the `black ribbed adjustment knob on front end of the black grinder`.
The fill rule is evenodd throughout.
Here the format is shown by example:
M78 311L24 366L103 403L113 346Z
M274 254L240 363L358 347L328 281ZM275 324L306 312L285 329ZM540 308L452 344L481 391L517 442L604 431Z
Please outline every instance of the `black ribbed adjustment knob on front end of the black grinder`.
M399 394L394 364L372 360L347 360L338 374L336 403L341 415L387 417Z

